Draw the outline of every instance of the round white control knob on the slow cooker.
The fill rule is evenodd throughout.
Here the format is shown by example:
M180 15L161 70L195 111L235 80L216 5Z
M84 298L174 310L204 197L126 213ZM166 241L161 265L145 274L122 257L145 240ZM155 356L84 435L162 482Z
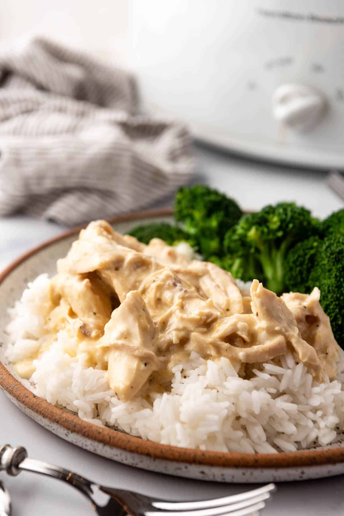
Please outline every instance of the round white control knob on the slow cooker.
M272 98L274 118L297 132L311 130L321 120L325 108L324 96L303 84L283 84Z

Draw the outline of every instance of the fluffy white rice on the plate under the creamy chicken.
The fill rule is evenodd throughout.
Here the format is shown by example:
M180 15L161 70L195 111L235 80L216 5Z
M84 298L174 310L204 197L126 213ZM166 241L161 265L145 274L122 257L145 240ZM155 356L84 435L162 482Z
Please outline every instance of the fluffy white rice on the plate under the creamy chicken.
M11 362L27 358L42 336L50 281L39 276L11 309ZM230 361L203 360L192 353L174 368L172 390L122 402L110 390L107 372L87 367L86 354L71 358L70 337L56 341L35 361L33 392L85 421L119 428L163 444L203 450L276 453L335 441L344 428L344 353L337 379L318 383L291 354L239 378Z

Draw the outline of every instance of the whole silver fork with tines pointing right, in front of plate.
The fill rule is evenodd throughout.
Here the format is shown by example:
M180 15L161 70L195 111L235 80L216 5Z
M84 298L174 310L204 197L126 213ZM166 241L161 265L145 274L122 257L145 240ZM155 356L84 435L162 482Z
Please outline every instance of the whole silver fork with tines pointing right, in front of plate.
M244 516L259 513L276 489L270 483L245 493L213 500L168 502L132 491L100 486L61 467L28 459L25 448L12 448L9 444L0 446L0 471L2 470L11 476L19 475L21 471L32 471L63 480L87 496L99 516Z

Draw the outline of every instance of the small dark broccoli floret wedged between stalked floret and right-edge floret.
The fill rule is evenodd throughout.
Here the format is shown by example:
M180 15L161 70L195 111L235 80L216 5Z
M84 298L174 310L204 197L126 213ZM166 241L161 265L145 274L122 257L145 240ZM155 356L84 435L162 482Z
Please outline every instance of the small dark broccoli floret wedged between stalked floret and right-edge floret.
M309 283L322 241L318 236L311 236L292 247L284 262L285 291L309 293L313 286Z

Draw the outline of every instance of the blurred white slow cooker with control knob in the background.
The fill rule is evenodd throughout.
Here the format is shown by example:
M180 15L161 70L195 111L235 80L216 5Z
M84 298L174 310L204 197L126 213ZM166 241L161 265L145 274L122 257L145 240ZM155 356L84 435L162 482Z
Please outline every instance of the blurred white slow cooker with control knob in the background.
M344 3L132 0L142 105L252 157L344 168Z

